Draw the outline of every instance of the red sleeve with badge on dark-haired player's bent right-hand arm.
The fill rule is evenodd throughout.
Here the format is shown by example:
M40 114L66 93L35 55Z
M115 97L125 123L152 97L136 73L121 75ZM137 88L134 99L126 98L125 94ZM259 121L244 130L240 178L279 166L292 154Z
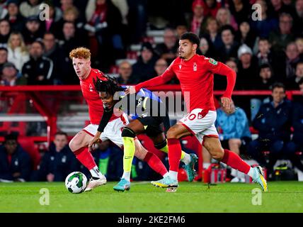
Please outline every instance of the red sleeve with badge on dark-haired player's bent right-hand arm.
M236 84L236 72L231 70L230 67L222 62L217 62L216 60L208 57L205 57L205 65L207 70L210 72L227 77L227 89L222 97L231 99L231 93L234 90L234 85Z

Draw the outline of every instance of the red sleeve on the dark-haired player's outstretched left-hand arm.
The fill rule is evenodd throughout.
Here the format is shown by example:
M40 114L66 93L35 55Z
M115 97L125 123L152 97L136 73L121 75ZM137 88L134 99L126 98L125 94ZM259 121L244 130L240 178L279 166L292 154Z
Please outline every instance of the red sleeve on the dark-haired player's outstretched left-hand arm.
M154 86L158 86L161 84L165 84L166 82L171 80L173 77L175 77L176 74L175 74L175 72L173 72L174 62L175 62L175 60L173 62L171 62L171 65L160 76L154 77L145 82L137 84L135 86L136 92L139 92L139 89L142 89L143 87L147 88L147 87L154 87Z

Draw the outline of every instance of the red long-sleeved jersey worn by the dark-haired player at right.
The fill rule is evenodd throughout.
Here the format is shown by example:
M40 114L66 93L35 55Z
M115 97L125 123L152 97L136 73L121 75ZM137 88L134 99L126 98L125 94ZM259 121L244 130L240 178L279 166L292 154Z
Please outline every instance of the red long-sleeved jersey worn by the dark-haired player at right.
M231 98L236 83L236 73L222 62L202 55L194 55L190 60L177 57L159 77L137 84L136 91L142 87L153 87L165 84L177 77L185 98L188 111L193 109L208 109L215 111L213 98L214 74L227 76L227 90L223 96ZM189 95L187 95L189 94Z

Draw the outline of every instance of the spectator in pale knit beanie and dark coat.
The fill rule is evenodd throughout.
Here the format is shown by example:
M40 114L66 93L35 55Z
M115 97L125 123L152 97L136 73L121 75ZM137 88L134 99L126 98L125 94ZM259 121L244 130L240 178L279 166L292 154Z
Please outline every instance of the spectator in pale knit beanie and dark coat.
M258 64L248 45L243 44L238 50L239 65L236 89L251 89L258 78Z

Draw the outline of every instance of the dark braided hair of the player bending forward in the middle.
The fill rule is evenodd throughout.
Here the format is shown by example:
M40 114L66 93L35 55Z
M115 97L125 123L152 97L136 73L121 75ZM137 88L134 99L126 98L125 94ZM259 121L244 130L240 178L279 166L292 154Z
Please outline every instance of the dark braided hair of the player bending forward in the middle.
M107 92L111 95L115 92L124 91L125 89L118 84L118 80L113 77L104 76L103 78L93 78L93 85L97 92Z

